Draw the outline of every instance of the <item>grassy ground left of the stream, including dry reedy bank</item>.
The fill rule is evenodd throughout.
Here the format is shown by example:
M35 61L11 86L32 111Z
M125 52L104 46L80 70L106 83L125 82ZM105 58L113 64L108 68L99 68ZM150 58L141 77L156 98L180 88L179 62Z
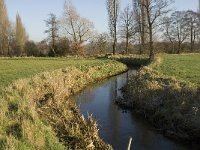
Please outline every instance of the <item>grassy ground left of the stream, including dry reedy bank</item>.
M45 63L43 65L44 61L47 68ZM57 61L60 66L52 67ZM0 98L0 149L111 149L99 137L96 121L91 116L83 118L69 96L90 83L125 71L125 65L94 59L53 59L53 63L49 59L14 59L10 63L18 66L19 62L18 69L24 69L24 73L10 69L16 73L15 79L32 77L19 79L3 88ZM48 72L34 75L37 72L33 62L41 71L48 69ZM6 72L6 66L1 67ZM63 69L50 71L54 67ZM10 82L12 80L6 84Z

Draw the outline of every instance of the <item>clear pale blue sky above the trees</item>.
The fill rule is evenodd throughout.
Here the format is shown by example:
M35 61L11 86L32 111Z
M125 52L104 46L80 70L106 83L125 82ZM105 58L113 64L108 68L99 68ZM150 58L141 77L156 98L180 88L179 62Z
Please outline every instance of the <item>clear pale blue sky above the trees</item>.
M10 20L15 22L18 12L29 34L29 39L40 41L45 38L45 22L50 12L61 17L64 0L5 0ZM94 22L98 32L107 31L106 0L71 0L79 14ZM132 0L121 0L121 8ZM197 10L198 0L175 0L176 10Z

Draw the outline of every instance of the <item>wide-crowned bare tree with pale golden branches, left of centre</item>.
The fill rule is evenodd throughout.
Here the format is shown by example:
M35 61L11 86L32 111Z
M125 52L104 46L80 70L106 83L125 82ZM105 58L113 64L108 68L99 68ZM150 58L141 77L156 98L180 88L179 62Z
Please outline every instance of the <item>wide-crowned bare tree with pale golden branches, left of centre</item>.
M81 17L72 5L71 1L66 0L64 4L64 15L62 19L62 28L79 51L82 44L88 41L94 30L94 25L88 19Z

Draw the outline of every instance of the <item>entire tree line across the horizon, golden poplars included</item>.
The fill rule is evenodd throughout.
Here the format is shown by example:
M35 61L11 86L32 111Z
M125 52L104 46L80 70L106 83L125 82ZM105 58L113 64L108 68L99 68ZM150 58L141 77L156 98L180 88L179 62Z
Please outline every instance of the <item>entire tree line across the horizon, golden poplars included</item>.
M63 15L50 13L41 42L28 40L19 14L9 21L0 0L0 56L65 56L106 53L149 54L199 52L200 15L173 11L172 0L132 0L120 11L120 0L106 0L109 32L97 33L92 21L82 17L70 0Z

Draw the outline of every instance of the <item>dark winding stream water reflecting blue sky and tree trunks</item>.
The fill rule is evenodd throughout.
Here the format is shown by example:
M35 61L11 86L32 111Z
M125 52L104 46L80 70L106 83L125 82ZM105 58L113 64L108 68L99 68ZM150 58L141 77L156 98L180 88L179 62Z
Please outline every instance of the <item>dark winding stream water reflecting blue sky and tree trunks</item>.
M114 100L121 96L123 87L134 70L89 87L75 97L81 113L93 114L98 121L100 136L115 150L126 150L129 136L133 150L189 150L156 132L153 127L132 112L124 112Z

